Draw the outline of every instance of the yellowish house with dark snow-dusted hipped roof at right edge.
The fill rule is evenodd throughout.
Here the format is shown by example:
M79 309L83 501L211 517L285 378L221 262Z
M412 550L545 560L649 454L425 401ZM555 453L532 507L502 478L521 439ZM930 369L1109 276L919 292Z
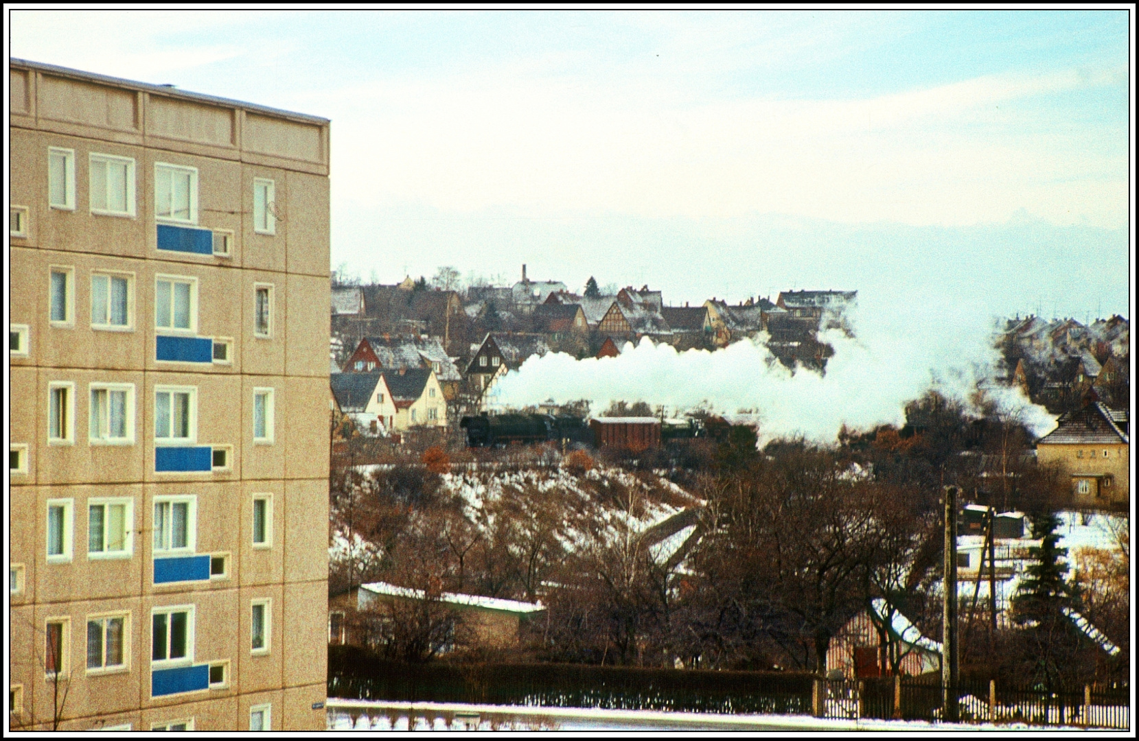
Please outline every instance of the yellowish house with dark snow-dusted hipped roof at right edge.
M1056 464L1071 479L1079 505L1126 507L1130 502L1128 411L1113 410L1090 396L1067 412L1036 443L1041 466Z

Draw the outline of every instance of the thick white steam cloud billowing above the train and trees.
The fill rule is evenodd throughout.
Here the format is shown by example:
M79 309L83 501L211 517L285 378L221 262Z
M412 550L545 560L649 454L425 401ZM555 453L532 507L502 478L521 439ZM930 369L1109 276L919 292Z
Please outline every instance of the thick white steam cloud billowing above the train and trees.
M846 312L854 337L839 330L819 336L835 351L825 374L787 369L763 345L765 337L715 352L680 353L646 338L636 347L626 344L617 357L532 357L499 381L494 402L521 407L585 398L595 413L614 401L663 404L670 413L698 407L752 412L761 444L798 435L827 444L844 425L852 430L902 426L906 404L927 390L976 409L980 386L1001 413L1038 436L1050 431L1054 415L1018 390L992 382L998 361L993 319L964 304L860 295Z

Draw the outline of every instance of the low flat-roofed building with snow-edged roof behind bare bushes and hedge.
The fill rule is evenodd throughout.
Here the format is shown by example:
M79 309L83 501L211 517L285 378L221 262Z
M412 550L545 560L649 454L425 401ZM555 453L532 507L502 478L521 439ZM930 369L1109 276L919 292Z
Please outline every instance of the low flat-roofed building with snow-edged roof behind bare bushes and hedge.
M423 590L395 586L386 582L362 584L328 601L328 642L331 644L368 645L383 640L384 624L392 619L390 610L401 604L427 600ZM443 592L432 601L444 607L456 626L446 631L446 642L439 652L468 649L509 649L518 645L519 625L544 609L540 603L503 600L476 594ZM366 616L378 618L372 625L380 635L367 635ZM458 629L456 629L456 627Z

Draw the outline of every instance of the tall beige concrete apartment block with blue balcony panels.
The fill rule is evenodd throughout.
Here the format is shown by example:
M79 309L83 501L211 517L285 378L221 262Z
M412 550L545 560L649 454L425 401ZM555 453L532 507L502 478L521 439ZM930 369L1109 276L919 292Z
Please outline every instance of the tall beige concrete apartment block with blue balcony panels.
M9 96L9 726L323 728L329 122Z

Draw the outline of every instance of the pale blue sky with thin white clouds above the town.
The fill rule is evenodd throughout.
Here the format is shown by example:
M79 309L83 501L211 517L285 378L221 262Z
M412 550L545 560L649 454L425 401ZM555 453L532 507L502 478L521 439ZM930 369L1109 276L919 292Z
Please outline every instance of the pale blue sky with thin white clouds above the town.
M10 56L331 120L331 263L1130 316L1121 10L14 10Z

